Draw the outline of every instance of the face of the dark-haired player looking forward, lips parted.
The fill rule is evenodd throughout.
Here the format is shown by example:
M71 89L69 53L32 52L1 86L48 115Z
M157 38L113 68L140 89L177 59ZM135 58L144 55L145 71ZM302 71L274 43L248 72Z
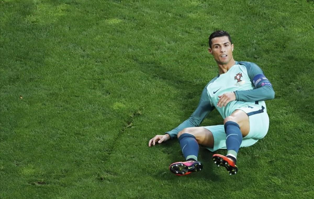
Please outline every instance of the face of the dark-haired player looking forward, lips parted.
M218 64L228 64L233 60L233 44L230 43L228 36L215 37L212 39L212 46L208 52L214 56Z

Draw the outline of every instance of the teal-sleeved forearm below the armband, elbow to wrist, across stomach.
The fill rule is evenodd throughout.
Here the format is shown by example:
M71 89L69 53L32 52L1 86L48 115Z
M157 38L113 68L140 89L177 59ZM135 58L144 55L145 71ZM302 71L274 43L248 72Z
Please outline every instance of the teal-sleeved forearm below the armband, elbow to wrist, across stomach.
M244 102L272 100L275 92L271 86L262 86L251 90L235 91L236 100Z

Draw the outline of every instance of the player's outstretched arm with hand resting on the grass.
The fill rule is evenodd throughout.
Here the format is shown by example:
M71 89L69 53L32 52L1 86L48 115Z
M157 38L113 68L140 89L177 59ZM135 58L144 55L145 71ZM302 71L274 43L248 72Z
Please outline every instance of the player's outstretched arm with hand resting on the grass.
M168 139L176 138L176 135L184 128L197 127L207 116L207 114L214 110L214 107L210 103L210 99L207 94L207 86L203 89L201 99L198 103L198 107L192 113L192 115L182 122L178 127L166 132L164 135L156 135L154 138L149 140L148 146L155 145L155 143L161 143Z

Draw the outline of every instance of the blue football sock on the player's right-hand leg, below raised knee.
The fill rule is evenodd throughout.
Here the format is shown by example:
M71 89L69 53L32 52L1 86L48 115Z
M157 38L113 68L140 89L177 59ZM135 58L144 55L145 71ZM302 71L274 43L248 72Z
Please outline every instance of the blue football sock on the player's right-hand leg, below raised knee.
M227 135L227 156L236 160L236 156L242 143L242 133L240 127L236 122L228 121L225 123L225 132Z

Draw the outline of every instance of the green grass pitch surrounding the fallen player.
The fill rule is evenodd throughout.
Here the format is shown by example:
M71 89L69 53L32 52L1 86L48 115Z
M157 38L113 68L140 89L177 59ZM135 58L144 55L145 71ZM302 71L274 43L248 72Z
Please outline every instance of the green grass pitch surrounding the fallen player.
M1 198L313 198L314 2L1 0ZM177 140L148 147L218 73L208 36L230 32L275 99L234 176ZM222 124L213 111L203 126ZM225 151L218 151L225 153Z

